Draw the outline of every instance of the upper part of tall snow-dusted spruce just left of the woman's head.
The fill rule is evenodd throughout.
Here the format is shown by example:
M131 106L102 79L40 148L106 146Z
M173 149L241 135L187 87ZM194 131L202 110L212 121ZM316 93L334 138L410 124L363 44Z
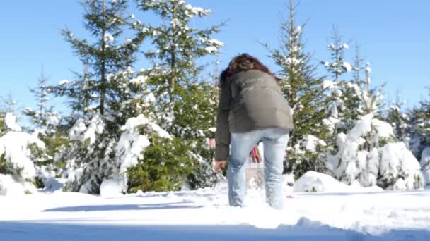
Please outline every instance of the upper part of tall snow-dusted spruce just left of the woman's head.
M174 102L176 87L192 80L190 75L196 69L197 58L216 54L223 46L223 43L211 39L222 24L202 30L190 27L192 18L209 16L211 11L193 7L182 0L138 0L138 6L142 11L152 11L162 20L161 25L143 27L143 32L152 35L156 49L146 51L145 56L159 63L153 70L159 72L160 78L153 80L153 84L161 87L159 91L167 91L170 101Z

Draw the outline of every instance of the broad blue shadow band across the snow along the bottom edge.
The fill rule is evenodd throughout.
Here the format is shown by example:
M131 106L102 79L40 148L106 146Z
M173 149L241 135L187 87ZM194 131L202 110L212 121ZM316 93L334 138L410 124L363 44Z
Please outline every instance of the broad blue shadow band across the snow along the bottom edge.
M45 221L50 222L50 221ZM54 221L53 221L54 222ZM1 240L18 241L111 241L111 240L409 240L430 241L425 230L397 230L382 236L357 233L328 226L281 226L258 229L249 225L188 226L188 225L81 225L41 223L31 221L0 222Z

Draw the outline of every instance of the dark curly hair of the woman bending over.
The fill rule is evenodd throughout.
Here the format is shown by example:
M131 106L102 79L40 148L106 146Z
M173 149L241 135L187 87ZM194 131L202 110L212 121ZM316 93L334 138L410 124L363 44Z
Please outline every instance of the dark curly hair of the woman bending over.
M258 58L250 56L249 54L239 54L238 56L234 57L230 61L230 63L228 63L228 67L223 70L223 72L221 72L221 75L219 77L221 87L224 87L226 85L226 80L230 78L231 75L246 70L260 70L269 75L272 75L272 77L276 80L279 80L279 78L277 78L272 72L270 72L269 68L262 64L260 60L258 60Z

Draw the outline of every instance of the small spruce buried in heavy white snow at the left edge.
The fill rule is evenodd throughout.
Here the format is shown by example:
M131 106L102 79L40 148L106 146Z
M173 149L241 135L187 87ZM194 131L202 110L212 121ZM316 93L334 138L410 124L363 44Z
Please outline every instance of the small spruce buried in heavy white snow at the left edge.
M0 137L0 195L36 192L33 162L44 152L45 144L22 131L13 113L4 118L7 132Z

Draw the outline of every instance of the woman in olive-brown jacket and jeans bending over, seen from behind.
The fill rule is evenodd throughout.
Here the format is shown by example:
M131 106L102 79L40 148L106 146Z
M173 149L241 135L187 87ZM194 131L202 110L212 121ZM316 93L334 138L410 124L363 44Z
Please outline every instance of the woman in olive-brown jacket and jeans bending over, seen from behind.
M245 162L252 147L262 141L266 202L281 209L283 161L293 119L277 78L257 58L240 54L223 70L220 82L215 171L224 168L228 159L229 203L243 206Z

